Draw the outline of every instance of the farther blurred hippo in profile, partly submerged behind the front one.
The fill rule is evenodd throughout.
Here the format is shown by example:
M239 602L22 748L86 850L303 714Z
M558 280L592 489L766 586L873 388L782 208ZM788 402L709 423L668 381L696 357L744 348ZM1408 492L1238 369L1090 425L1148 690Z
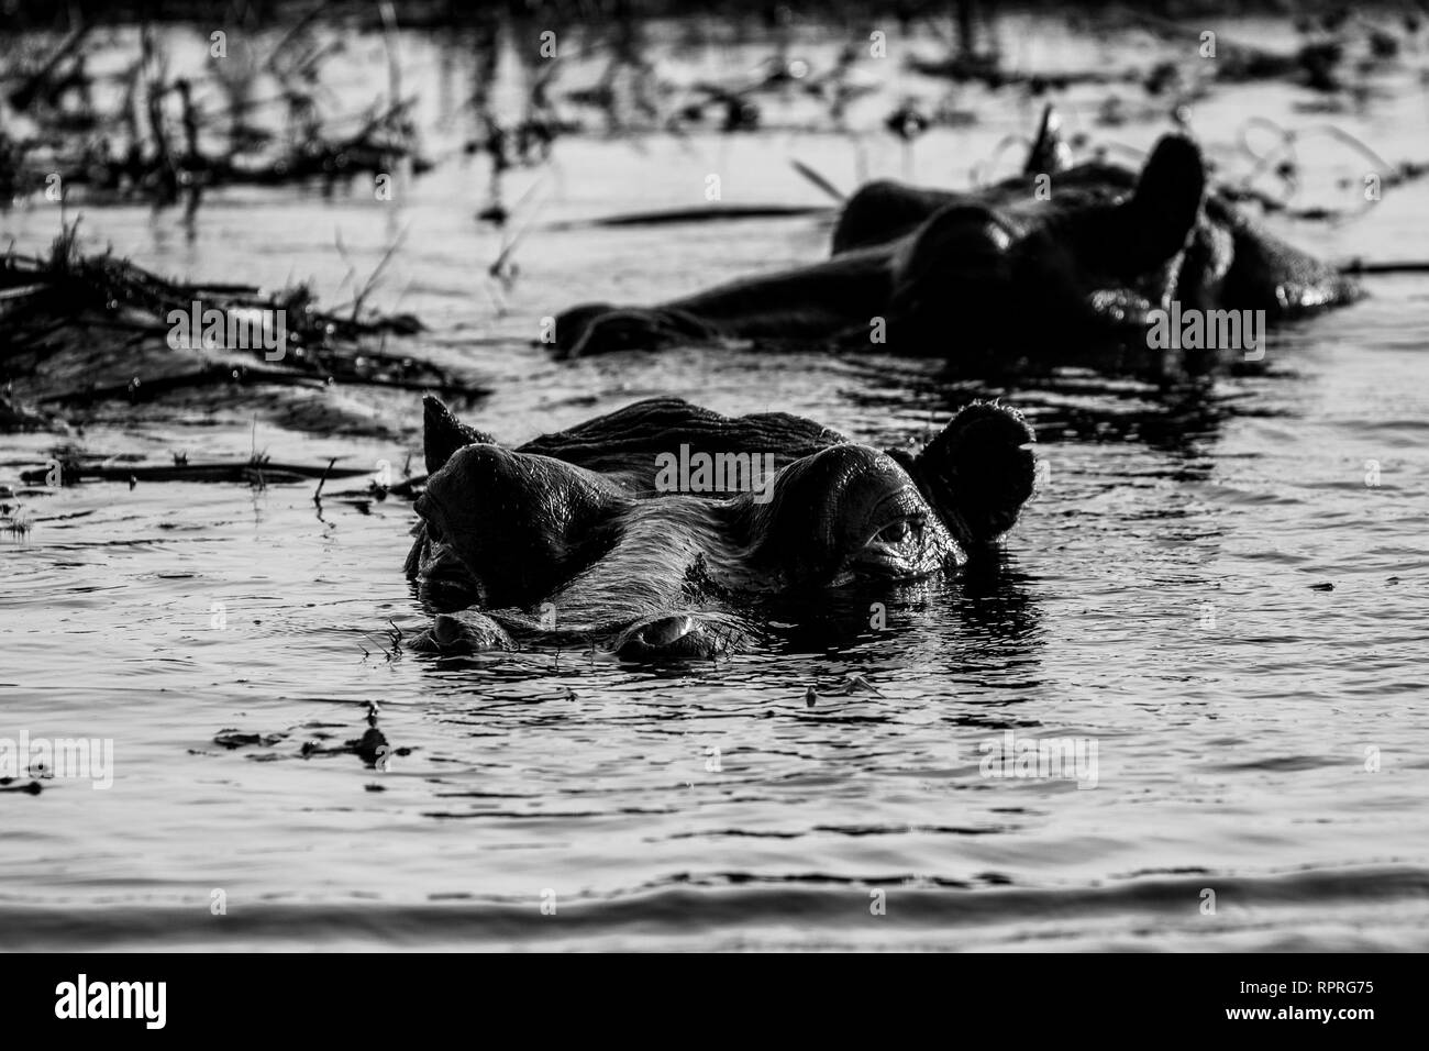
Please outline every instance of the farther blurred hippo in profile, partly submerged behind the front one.
M1070 162L1049 107L1020 176L967 193L869 183L839 214L827 260L657 306L576 306L556 317L554 353L753 340L886 343L992 370L1062 365L1083 347L1137 362L1173 303L1273 322L1360 295L1208 189L1185 134L1163 136L1139 174Z

